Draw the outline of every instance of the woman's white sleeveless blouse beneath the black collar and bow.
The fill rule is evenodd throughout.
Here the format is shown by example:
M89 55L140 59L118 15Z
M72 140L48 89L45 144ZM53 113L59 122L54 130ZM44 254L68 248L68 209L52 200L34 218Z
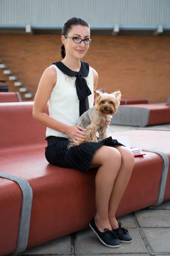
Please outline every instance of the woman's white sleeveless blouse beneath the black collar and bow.
M59 70L55 64L50 67L54 67L57 71L57 83L53 87L48 100L49 116L65 125L76 125L79 118L79 99L75 83L76 77L67 76ZM92 108L94 105L94 76L91 67L89 67L88 77L85 77L85 79L91 90L91 95L88 96L88 102L89 108ZM66 134L49 127L46 128L45 136L68 138Z

